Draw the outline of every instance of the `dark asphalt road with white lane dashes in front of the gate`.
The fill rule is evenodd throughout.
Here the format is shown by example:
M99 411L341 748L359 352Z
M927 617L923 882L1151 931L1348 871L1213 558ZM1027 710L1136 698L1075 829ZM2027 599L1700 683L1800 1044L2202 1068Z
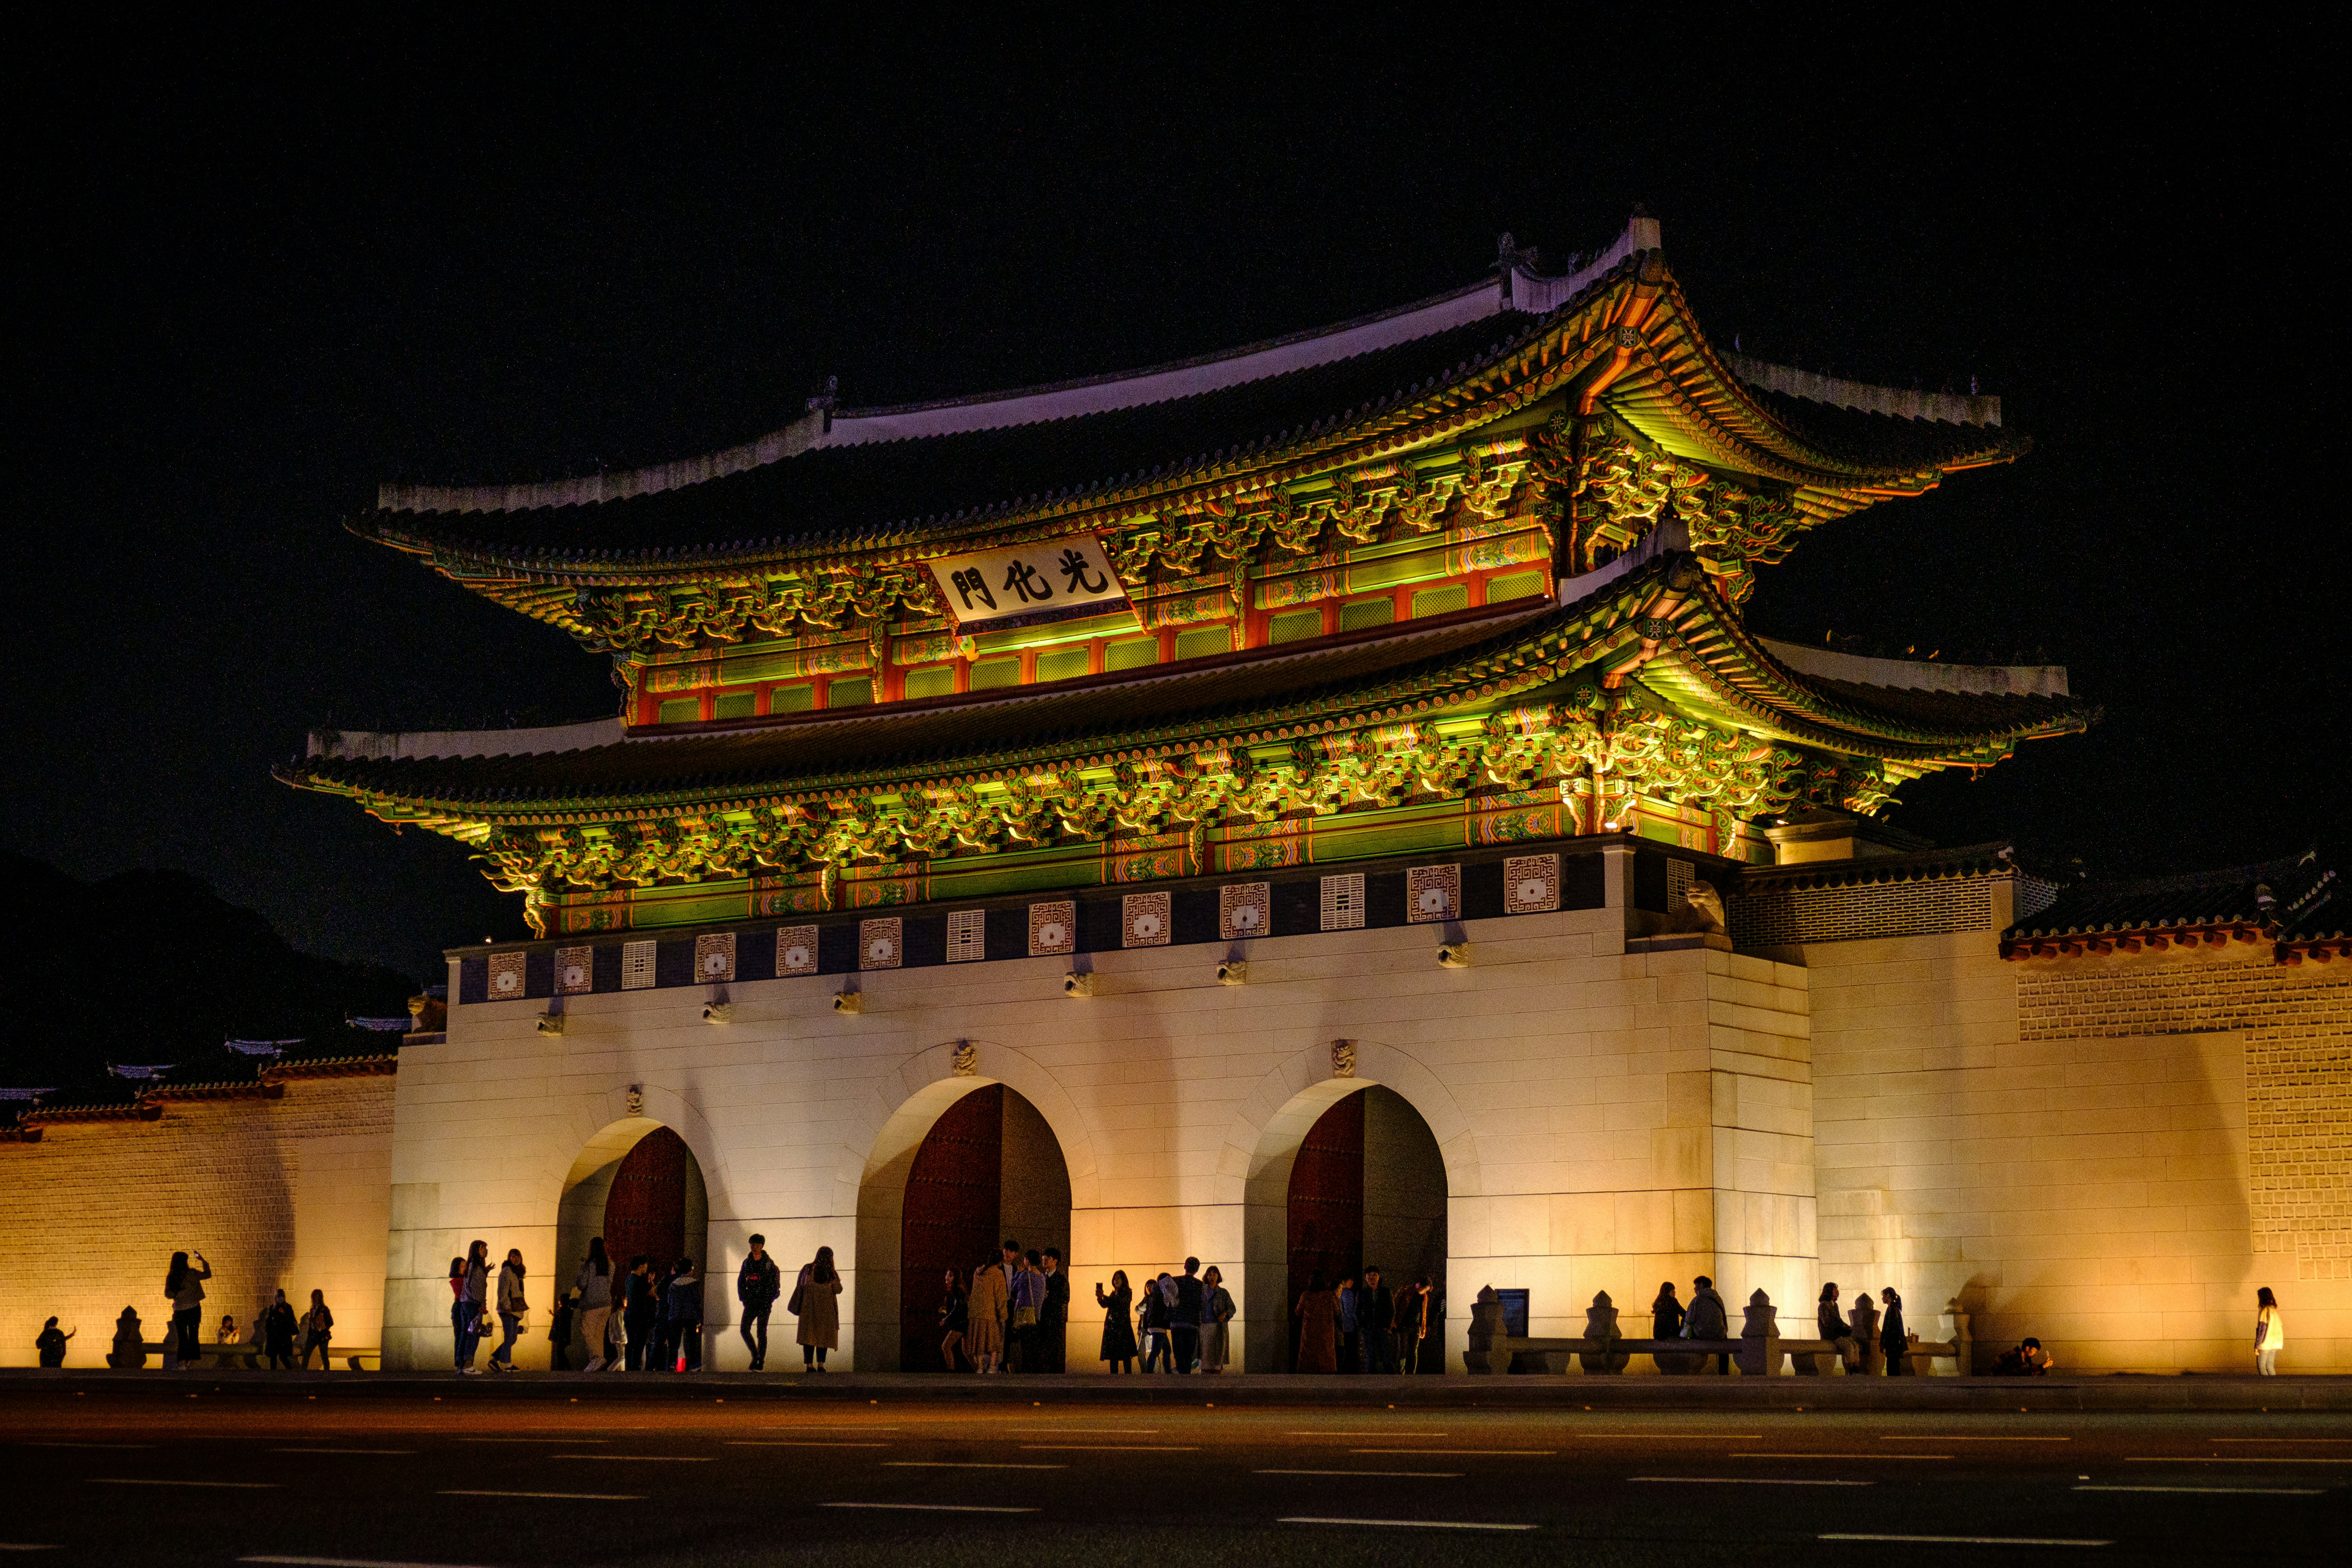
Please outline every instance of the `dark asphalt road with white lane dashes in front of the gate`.
M1202 1394L1216 1389L1204 1387ZM2347 1561L2343 1415L0 1399L0 1561Z

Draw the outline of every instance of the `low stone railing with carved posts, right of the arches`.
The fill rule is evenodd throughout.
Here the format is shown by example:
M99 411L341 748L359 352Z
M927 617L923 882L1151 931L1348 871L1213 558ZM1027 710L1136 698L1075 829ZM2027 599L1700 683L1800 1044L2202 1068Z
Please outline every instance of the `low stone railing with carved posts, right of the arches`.
M1618 1309L1609 1293L1592 1298L1581 1338L1522 1338L1503 1333L1503 1302L1494 1288L1477 1295L1470 1307L1470 1347L1463 1366L1472 1373L1566 1373L1569 1356L1585 1373L1623 1373L1632 1356L1651 1356L1661 1373L1703 1373L1715 1356L1731 1356L1743 1378L1780 1378L1792 1363L1799 1378L1825 1378L1839 1371L1879 1373L1884 1356L1877 1347L1860 1347L1853 1340L1783 1340L1780 1309L1764 1291L1748 1298L1748 1316L1736 1340L1628 1340L1616 1326ZM1966 1378L1973 1368L1973 1342L1969 1338L1969 1314L1957 1307L1945 1314L1952 1321L1950 1340L1922 1340L1910 1335L1905 1361L1915 1375L1933 1375L1936 1361L1950 1361L1952 1375ZM1856 1354L1858 1368L1846 1368L1846 1352ZM1555 1366L1557 1361L1557 1366Z

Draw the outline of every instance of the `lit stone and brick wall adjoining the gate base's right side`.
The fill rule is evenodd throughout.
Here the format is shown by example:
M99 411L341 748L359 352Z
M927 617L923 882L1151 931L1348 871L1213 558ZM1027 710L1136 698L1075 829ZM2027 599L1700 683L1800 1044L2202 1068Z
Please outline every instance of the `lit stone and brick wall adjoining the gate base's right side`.
M2298 1276L2293 1239L2256 1251L2249 1060L2267 1072L2277 1025L2333 1006L2333 1067L2300 1081L2319 1100L2345 1081L2324 994L2343 980L2267 952L2013 964L1994 929L1806 947L1823 1274L1849 1300L1896 1286L1922 1338L1957 1298L1983 1363L2037 1335L2082 1371L2249 1371L2267 1284L2288 1307L2284 1366L2352 1363L2347 1284ZM2065 1004L2020 1018L2020 994L2051 992ZM2288 1175L2340 1192L2343 1138L2328 1157L2324 1107L2307 1121L2312 1164ZM2336 1175L2314 1171L2328 1159Z

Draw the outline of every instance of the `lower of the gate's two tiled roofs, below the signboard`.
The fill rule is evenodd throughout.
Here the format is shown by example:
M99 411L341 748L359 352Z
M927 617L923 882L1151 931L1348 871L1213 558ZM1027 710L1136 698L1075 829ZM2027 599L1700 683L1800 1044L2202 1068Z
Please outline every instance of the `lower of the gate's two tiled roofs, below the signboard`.
M452 736L447 757L423 757L402 736L315 736L310 757L280 778L405 811L539 818L1065 766L1105 748L1176 752L1254 743L1378 717L1435 719L1569 698L1581 672L1632 646L1646 625L1639 616L1668 602L1663 616L1672 630L1635 684L1748 733L1943 766L1990 759L2023 738L2077 731L2096 715L2063 693L2063 672L2056 693L2016 691L2023 682L1990 672L1966 691L1936 691L1926 675L1912 672L1943 677L1952 665L1903 661L1846 661L1844 672L1860 677L1849 682L1799 675L1738 628L1691 555L1649 548L1562 583L1559 604L1548 609L1463 611L1157 675L818 710L727 733L623 741L564 726L510 731L503 745L494 736Z

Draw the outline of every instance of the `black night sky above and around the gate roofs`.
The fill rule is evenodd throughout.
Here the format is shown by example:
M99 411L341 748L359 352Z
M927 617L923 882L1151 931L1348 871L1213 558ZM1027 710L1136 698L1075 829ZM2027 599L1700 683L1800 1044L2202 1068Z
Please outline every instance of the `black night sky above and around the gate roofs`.
M5 846L186 870L435 973L524 936L520 900L270 764L310 724L616 693L346 534L376 482L689 456L828 374L877 404L1216 350L1470 282L1501 230L1606 242L1635 202L1719 343L1976 376L2037 442L1762 574L1766 635L2044 649L2105 705L1893 820L2093 872L2340 835L2331 31L1583 9L21 40Z

